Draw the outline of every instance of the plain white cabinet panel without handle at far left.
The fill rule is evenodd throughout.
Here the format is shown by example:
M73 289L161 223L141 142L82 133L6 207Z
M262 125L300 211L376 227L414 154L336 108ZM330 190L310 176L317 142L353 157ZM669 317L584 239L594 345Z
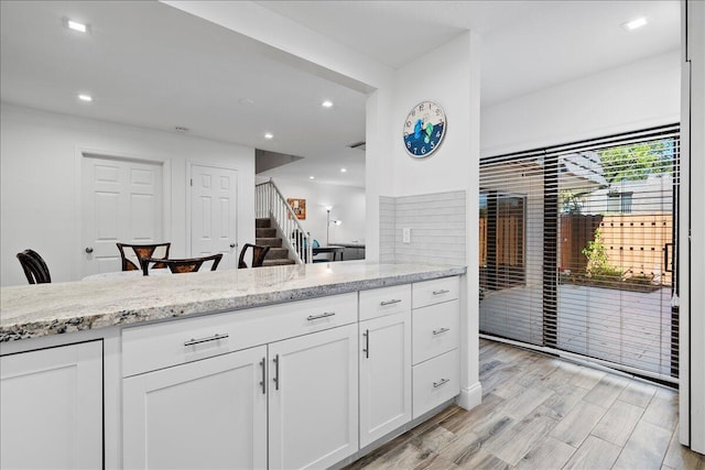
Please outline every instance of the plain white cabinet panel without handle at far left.
M102 342L0 358L0 468L102 468Z

